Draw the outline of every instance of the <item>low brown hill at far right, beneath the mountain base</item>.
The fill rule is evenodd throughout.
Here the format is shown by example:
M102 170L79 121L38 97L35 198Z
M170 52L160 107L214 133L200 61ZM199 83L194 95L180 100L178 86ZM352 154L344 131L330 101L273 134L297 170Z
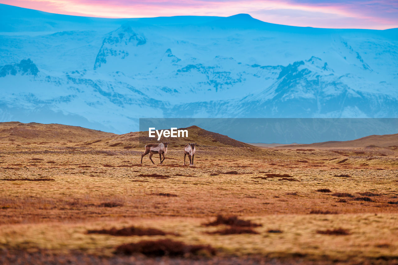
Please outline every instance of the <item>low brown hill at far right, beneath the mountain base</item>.
M367 147L367 146L387 147L387 146L397 146L397 145L398 145L398 133L385 134L385 135L370 135L350 141L328 141L328 142L317 142L313 144L281 145L276 147L277 148L355 148L355 147Z

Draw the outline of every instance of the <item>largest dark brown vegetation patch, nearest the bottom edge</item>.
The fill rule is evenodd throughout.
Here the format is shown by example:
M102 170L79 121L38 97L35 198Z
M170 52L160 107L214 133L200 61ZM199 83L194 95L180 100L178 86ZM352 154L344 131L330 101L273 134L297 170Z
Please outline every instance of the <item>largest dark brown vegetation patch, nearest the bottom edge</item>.
M144 240L138 243L128 243L116 247L116 254L143 254L149 257L195 257L213 256L216 250L209 245L188 245L171 239Z

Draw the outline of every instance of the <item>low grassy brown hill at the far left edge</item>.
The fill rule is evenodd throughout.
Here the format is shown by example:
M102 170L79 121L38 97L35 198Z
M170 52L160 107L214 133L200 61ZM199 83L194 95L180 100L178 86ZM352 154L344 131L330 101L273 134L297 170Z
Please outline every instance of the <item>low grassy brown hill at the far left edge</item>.
M112 135L115 134L62 124L0 123L0 142L82 142Z

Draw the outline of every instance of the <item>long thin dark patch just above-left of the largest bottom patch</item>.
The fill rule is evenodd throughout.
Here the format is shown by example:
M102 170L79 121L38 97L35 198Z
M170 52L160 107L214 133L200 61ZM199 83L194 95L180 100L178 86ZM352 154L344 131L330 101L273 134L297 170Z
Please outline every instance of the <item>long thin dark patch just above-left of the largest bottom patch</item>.
M116 229L113 227L111 229L88 230L87 234L107 234L111 236L166 236L172 233L166 233L156 228L130 226L121 229Z

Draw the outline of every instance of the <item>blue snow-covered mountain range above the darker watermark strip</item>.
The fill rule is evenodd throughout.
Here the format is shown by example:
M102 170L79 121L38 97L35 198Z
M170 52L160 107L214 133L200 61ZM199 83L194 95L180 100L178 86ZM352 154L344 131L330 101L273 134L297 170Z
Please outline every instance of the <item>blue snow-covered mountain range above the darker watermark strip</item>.
M398 29L0 15L0 121L126 133L139 117L398 117Z

